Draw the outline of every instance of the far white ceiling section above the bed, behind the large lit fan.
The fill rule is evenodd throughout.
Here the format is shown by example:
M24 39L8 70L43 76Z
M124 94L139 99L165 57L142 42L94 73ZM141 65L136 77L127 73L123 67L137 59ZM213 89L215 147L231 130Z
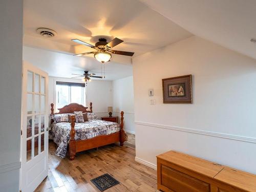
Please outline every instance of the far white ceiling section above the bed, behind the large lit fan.
M74 57L72 55L57 53L43 49L23 46L23 59L34 66L48 72L49 76L71 78L83 71L101 76L101 63L94 58ZM115 80L133 75L132 65L116 62L105 64L106 77L97 80Z

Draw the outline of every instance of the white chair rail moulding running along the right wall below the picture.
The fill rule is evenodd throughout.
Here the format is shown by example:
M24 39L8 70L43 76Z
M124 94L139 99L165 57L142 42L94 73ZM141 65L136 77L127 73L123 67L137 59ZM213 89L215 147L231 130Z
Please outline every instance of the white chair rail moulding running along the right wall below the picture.
M231 139L231 140L237 140L237 141L243 141L243 142L249 142L249 143L256 143L256 138L253 138L253 137L244 137L244 136L238 136L238 135L230 135L230 134L224 134L224 133L195 130L195 129L189 129L189 128L184 128L184 127L147 123L147 122L141 122L141 121L135 121L135 124L152 126L152 127L157 127L157 128L161 128L161 129L167 129L167 130L175 130L175 131L180 131L180 132L207 135L210 137L219 137L219 138L223 138L223 139Z

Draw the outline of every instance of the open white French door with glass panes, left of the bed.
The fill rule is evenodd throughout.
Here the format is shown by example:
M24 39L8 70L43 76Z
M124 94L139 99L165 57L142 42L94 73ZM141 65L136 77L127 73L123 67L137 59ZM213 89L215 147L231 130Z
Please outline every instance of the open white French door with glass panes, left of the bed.
M48 74L23 62L20 189L30 192L48 175Z

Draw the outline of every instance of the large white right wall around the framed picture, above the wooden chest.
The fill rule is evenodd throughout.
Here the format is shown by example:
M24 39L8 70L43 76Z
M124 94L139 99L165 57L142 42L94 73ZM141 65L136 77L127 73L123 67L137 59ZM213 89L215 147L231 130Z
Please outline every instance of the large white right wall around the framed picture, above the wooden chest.
M256 174L256 60L194 36L133 67L137 161L155 167L156 155L177 150ZM161 79L188 74L193 104L163 104Z

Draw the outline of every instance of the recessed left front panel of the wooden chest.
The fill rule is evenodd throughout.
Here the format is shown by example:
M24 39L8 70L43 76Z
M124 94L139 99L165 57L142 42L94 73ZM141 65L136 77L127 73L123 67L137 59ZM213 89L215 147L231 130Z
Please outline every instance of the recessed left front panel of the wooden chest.
M210 184L197 178L179 172L173 168L161 165L161 184L176 192L208 192Z

